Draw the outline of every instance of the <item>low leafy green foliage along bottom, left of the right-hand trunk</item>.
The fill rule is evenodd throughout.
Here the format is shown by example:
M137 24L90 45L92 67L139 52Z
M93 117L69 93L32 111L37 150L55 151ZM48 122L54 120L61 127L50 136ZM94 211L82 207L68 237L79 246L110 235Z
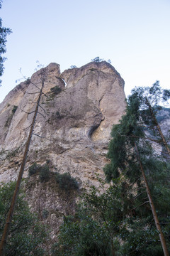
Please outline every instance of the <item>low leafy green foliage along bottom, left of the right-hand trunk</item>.
M125 176L120 176L103 193L101 188L95 187L84 193L76 213L64 217L52 255L162 255L145 188L130 187L127 181ZM157 196L159 193L157 191ZM167 237L170 228L169 196L165 190L162 197L165 208L162 202L157 203Z

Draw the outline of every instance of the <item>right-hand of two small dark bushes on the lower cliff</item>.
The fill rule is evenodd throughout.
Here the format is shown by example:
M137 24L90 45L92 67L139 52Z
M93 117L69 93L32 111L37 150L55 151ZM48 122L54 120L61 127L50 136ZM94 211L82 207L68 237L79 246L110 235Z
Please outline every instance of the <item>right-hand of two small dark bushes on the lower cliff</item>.
M79 183L76 178L72 178L69 173L55 174L55 181L59 184L59 187L64 190L78 189Z

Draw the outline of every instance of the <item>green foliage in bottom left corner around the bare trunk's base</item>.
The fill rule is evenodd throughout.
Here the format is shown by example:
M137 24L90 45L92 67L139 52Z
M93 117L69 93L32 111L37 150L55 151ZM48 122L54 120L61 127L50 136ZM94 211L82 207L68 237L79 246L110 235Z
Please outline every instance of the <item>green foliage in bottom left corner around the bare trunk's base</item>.
M15 182L1 184L0 187L0 236L2 235L8 207L11 203ZM11 229L6 243L6 256L45 255L42 245L47 238L45 226L38 222L37 215L31 213L23 193L17 198Z

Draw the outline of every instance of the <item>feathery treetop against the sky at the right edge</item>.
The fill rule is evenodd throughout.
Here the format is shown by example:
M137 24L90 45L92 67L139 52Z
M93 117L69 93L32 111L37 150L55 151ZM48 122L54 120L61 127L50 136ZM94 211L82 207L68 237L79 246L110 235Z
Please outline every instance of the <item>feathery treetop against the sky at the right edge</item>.
M155 142L161 144L166 154L170 156L169 145L157 122L157 112L162 110L160 104L170 99L170 90L163 90L159 85L159 81L157 81L152 87L136 87L132 90L130 98L130 100L138 100L141 114L140 121L142 121L140 125L145 125L145 137L148 132L153 134Z

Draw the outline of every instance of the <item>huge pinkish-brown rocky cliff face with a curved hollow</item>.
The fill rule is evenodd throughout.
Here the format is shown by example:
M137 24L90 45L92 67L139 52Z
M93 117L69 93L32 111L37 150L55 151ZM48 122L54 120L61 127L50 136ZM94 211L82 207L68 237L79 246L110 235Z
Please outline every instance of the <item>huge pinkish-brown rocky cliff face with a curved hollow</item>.
M106 62L89 63L62 74L55 63L45 70L45 95L34 129L39 137L33 135L23 176L28 177L33 162L49 160L51 173L69 172L80 188L97 186L96 174L103 177L107 161L111 128L125 110L124 81ZM39 75L40 71L30 81L21 82L0 105L0 181L17 177L38 98L34 92L41 84ZM60 93L55 94L56 88ZM40 183L38 176L26 178L26 191L30 206L40 216L48 211L46 221L55 226L55 235L62 215L74 210L76 194L64 194L52 178Z

